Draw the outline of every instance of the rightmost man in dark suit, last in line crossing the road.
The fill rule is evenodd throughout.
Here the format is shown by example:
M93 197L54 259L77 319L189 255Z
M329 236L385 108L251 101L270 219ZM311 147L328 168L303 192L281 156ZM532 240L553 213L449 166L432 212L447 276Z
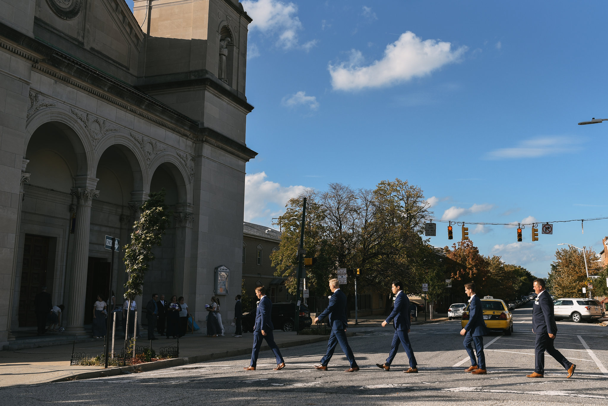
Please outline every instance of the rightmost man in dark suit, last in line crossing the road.
M572 376L576 365L568 361L561 352L555 349L553 341L558 334L558 325L553 315L553 299L545 292L545 279L536 279L533 284L536 301L532 306L532 332L536 333L534 345L534 372L528 378L542 378L545 374L545 351L568 371Z

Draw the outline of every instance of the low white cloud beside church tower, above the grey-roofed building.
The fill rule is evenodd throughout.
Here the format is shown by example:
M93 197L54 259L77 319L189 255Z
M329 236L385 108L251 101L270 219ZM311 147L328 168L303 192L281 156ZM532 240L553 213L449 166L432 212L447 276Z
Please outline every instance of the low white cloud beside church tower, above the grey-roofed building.
M266 180L265 172L247 173L245 175L245 211L246 222L258 222L263 225L272 223L272 217L285 212L285 203L306 189L306 186L281 186L280 183Z

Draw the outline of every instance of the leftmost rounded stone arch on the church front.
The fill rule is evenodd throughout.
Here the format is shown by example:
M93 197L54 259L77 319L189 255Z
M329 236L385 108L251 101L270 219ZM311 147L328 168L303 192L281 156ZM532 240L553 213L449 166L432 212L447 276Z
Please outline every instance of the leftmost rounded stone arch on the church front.
M76 156L77 167L74 176L92 177L93 166L93 145L88 133L76 117L57 107L44 108L30 117L26 124L24 136L23 156L27 159L27 149L30 145L32 136L41 126L47 123L55 123L55 127L63 131L69 139ZM27 171L27 167L26 167Z

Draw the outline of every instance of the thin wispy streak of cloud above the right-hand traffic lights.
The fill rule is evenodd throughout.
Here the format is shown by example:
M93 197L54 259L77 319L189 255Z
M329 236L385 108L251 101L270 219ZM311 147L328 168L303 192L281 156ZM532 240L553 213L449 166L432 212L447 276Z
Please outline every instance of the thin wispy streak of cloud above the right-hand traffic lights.
M576 144L575 139L564 136L527 139L520 141L517 147L491 151L486 155L486 159L538 158L539 156L558 155L581 149Z

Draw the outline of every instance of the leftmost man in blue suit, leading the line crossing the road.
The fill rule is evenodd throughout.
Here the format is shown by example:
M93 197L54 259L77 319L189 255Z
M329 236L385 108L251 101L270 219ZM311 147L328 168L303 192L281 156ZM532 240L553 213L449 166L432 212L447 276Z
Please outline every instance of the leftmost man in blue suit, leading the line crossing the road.
M266 344L268 344L272 352L274 352L275 357L277 357L277 368L272 368L272 370L278 371L285 368L285 360L283 360L281 351L278 351L277 343L274 342L274 335L272 335L272 331L274 330L274 326L272 325L272 301L266 296L266 288L263 286L255 288L255 295L260 299L260 304L258 304L258 309L255 312L254 349L251 352L251 363L249 366L243 367L243 369L255 371L262 340L266 340Z

